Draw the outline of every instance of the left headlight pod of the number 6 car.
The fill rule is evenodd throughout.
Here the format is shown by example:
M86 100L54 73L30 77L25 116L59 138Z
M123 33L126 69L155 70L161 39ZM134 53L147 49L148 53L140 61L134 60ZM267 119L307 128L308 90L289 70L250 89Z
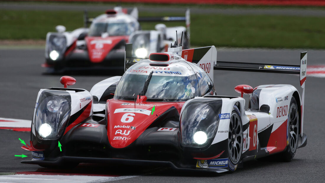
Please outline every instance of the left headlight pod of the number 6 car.
M35 113L35 132L40 140L58 139L70 117L70 103L61 96L47 96Z

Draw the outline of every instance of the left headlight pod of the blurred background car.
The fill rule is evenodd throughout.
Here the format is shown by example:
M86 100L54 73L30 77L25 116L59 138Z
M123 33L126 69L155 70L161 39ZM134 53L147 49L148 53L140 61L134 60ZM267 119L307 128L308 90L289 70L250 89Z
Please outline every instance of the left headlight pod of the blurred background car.
M63 57L67 47L67 39L62 34L51 34L47 40L47 54L51 60L58 60Z

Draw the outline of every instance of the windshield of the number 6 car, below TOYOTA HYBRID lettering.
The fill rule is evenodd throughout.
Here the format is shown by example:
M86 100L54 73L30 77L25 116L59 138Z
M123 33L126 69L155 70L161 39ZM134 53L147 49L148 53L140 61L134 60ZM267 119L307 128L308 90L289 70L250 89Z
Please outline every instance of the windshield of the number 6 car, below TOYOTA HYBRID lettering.
M189 76L162 76L153 73L148 90L147 101L186 101L199 95L195 74ZM114 95L116 99L134 100L143 89L148 75L125 73Z

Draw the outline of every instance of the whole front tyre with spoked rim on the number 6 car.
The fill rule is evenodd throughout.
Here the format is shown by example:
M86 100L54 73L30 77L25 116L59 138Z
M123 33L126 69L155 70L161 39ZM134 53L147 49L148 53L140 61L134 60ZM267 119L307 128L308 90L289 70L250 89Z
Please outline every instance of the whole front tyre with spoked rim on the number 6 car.
M231 171L235 171L240 163L243 148L243 126L240 111L236 105L230 115L227 148L228 168Z

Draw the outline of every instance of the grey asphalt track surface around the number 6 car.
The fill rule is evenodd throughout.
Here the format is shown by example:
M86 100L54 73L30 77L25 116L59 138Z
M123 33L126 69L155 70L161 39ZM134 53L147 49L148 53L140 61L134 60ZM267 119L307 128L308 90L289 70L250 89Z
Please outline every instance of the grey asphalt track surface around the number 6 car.
M308 51L308 65L324 64L324 50L277 50L277 49L218 49L220 61L247 61L278 64L299 64L300 52ZM44 62L43 49L0 50L0 117L32 118L35 100L40 88L61 87L60 75L43 75L40 67ZM85 73L81 73L85 74ZM103 75L76 75L74 88L88 91L97 82L110 77ZM29 140L29 132L0 130L0 173L39 171L58 173L79 173L96 175L132 176L116 182L323 182L324 181L324 80L308 77L305 91L304 133L308 136L307 146L298 149L290 163L277 161L245 162L244 167L233 173L201 174L179 172L168 168L130 167L123 165L81 164L72 170L49 170L38 165L21 164L22 159L30 159L31 153L21 150L18 138ZM262 84L292 84L300 88L299 76L291 74L228 72L214 74L214 85L218 95L239 96L234 87L248 84L253 87ZM244 96L247 100L248 96ZM246 104L247 107L247 104ZM19 158L15 154L29 157Z

